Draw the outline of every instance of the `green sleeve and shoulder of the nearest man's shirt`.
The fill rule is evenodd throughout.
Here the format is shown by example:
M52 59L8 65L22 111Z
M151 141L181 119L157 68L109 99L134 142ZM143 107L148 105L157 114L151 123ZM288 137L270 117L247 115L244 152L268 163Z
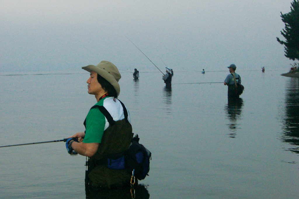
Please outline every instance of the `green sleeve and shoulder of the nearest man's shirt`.
M105 97L107 98L107 97ZM103 106L104 99L101 99L95 105ZM89 110L86 116L86 130L84 143L101 143L105 127L105 116L98 108Z

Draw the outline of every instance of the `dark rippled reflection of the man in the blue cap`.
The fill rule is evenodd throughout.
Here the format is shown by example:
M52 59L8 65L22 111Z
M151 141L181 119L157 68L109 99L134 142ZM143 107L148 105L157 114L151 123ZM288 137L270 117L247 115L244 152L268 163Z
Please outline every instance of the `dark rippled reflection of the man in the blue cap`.
M242 106L242 98L228 98L228 104L225 106L225 110L227 111L227 117L230 121L230 123L227 125L231 132L229 133L231 138L235 138L237 135L237 129L239 126L237 121L241 119Z

